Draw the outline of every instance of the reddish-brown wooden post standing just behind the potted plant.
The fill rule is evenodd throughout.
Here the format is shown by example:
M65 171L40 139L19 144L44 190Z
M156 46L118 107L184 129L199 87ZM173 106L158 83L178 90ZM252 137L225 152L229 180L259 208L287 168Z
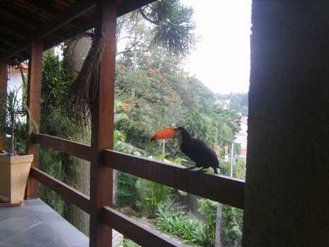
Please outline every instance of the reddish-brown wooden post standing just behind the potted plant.
M30 60L28 61L28 136L39 131L40 123L40 101L42 80L42 51L41 41L33 41L30 49ZM39 148L28 139L28 153L34 155L32 167L39 167ZM37 198L37 180L28 178L26 187L26 198Z

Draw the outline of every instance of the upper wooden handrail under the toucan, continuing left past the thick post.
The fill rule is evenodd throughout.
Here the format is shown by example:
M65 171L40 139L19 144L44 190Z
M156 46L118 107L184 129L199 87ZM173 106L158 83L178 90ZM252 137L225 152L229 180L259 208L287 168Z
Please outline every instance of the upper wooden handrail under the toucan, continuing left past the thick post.
M67 155L91 160L89 145L39 133L33 134L33 142ZM101 163L104 167L111 167L139 178L243 209L244 181L242 180L191 171L185 167L111 150L103 151Z

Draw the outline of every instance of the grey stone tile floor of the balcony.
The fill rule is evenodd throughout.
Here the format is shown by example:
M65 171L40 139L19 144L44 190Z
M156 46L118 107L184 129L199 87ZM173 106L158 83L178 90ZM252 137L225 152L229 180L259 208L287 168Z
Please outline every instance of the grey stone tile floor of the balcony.
M89 239L43 201L0 207L0 247L87 247Z

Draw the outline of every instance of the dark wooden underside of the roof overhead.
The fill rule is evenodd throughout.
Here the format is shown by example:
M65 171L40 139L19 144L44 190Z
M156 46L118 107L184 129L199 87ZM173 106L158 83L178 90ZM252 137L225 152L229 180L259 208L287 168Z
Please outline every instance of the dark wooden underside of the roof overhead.
M152 1L117 0L118 16ZM1 0L0 58L26 60L32 38L43 40L46 50L94 28L95 7L94 0Z

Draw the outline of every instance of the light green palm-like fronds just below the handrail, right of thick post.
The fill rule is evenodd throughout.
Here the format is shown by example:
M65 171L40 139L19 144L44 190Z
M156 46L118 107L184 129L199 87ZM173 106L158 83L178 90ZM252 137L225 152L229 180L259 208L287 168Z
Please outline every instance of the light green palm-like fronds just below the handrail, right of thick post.
M136 182L136 188L139 191L139 200L136 207L141 211L145 211L150 218L156 216L159 205L170 194L170 188L165 185L157 184L149 180L139 178Z

